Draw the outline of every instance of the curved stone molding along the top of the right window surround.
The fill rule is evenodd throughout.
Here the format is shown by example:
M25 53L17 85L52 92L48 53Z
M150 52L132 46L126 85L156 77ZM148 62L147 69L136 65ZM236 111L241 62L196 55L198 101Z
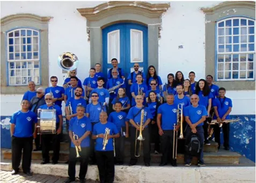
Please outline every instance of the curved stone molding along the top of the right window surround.
M255 10L255 2L254 1L226 1L211 8L201 8L204 13L213 14L215 11L218 11L222 8L250 8Z

